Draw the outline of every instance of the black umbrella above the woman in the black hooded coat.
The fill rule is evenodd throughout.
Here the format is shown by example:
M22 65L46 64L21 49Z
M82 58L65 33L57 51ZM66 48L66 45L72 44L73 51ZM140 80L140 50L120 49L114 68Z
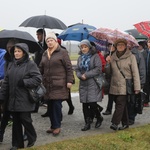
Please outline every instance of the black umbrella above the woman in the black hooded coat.
M6 49L7 42L10 39L17 39L19 43L26 43L29 46L29 52L34 53L42 50L31 34L19 30L2 30L0 31L0 48Z

